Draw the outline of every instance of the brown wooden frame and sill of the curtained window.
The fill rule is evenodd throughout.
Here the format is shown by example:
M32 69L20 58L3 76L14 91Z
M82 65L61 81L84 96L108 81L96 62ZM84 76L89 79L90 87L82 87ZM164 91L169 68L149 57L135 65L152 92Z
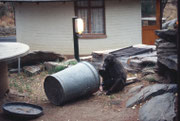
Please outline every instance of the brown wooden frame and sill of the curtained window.
M77 4L78 1L74 2L75 5L75 15L78 16L78 9L87 9L88 10L88 31L91 32L91 9L93 8L102 8L103 9L103 29L104 29L104 33L83 33L81 35L81 39L100 39L100 38L106 38L106 21L105 21L105 2L103 1L103 5L102 6L91 6L91 0L87 0L88 1L88 6L87 7L79 7ZM93 0L92 0L93 1Z

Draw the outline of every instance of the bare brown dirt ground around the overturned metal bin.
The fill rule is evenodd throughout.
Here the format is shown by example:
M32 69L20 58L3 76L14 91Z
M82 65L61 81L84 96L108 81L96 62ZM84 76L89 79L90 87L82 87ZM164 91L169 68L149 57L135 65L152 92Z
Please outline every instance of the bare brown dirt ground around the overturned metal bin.
M44 114L34 121L138 121L139 106L126 108L130 97L128 90L136 85L148 85L147 81L126 86L117 94L110 96L98 91L92 96L84 97L63 106L51 104L43 89L47 72L32 77L25 74L9 74L10 92L0 101L0 106L6 102L27 102L43 107ZM133 75L130 75L133 76ZM0 121L11 121L0 109Z

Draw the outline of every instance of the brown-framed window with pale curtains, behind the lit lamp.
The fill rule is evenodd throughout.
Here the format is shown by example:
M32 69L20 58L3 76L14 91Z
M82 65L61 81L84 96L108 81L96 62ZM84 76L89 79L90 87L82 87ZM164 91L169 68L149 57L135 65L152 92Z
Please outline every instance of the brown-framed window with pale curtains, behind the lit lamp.
M82 38L105 38L104 0L83 0L75 3L76 16L84 20Z

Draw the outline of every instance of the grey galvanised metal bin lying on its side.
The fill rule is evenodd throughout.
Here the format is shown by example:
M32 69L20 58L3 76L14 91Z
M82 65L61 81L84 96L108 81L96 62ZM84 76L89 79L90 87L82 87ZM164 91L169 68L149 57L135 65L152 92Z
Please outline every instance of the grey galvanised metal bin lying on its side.
M44 90L49 101L62 105L71 99L98 91L99 74L88 62L80 62L63 71L47 76Z

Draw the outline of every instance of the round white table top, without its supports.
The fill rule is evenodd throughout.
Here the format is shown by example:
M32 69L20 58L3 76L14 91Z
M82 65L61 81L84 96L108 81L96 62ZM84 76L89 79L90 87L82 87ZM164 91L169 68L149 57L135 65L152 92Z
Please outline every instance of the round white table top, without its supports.
M15 59L28 53L29 46L19 42L0 42L0 62Z

